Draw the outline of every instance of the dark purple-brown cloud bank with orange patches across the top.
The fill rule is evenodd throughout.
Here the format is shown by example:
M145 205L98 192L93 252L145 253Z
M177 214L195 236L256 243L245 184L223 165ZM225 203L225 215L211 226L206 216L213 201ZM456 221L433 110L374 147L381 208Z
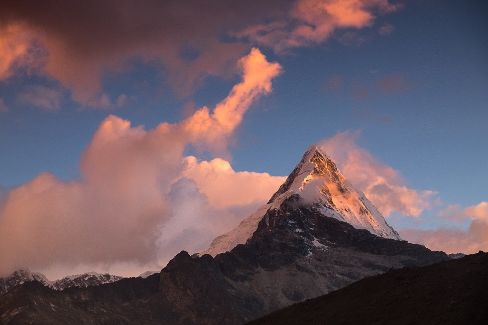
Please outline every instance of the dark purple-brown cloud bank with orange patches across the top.
M5 0L0 79L16 66L40 69L73 100L106 109L106 72L123 73L137 58L185 96L207 76L233 76L233 63L253 45L283 52L320 44L337 28L369 27L399 8L388 0Z

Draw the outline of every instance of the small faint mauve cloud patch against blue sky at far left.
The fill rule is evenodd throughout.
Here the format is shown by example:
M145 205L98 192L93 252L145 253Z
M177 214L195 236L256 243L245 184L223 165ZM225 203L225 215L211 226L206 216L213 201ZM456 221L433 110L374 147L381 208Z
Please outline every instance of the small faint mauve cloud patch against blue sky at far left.
M43 86L31 86L17 95L17 102L21 105L33 105L54 111L61 108L63 94L57 89Z

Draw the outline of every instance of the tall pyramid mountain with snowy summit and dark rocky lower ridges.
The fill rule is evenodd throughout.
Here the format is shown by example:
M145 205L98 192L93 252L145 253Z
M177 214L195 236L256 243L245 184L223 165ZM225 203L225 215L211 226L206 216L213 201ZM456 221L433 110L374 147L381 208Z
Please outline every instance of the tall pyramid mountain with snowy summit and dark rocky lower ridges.
M401 240L316 145L267 205L206 252L183 251L146 279L63 291L26 282L0 298L0 319L243 324L392 268L450 259Z

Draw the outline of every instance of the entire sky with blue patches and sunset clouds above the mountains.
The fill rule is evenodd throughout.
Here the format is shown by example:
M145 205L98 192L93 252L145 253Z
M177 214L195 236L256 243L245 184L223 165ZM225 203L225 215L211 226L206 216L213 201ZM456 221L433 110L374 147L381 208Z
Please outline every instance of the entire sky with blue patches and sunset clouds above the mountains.
M400 236L488 250L488 3L0 4L0 274L158 270L320 142Z

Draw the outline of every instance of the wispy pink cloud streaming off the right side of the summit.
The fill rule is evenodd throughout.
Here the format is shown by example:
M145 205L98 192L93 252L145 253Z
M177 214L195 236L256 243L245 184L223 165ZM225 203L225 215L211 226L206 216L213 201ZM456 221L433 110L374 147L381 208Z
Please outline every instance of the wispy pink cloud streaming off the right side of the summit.
M396 211L419 216L433 205L435 192L411 189L390 166L381 162L356 143L359 132L338 132L319 145L336 162L344 177L380 210L389 216Z

